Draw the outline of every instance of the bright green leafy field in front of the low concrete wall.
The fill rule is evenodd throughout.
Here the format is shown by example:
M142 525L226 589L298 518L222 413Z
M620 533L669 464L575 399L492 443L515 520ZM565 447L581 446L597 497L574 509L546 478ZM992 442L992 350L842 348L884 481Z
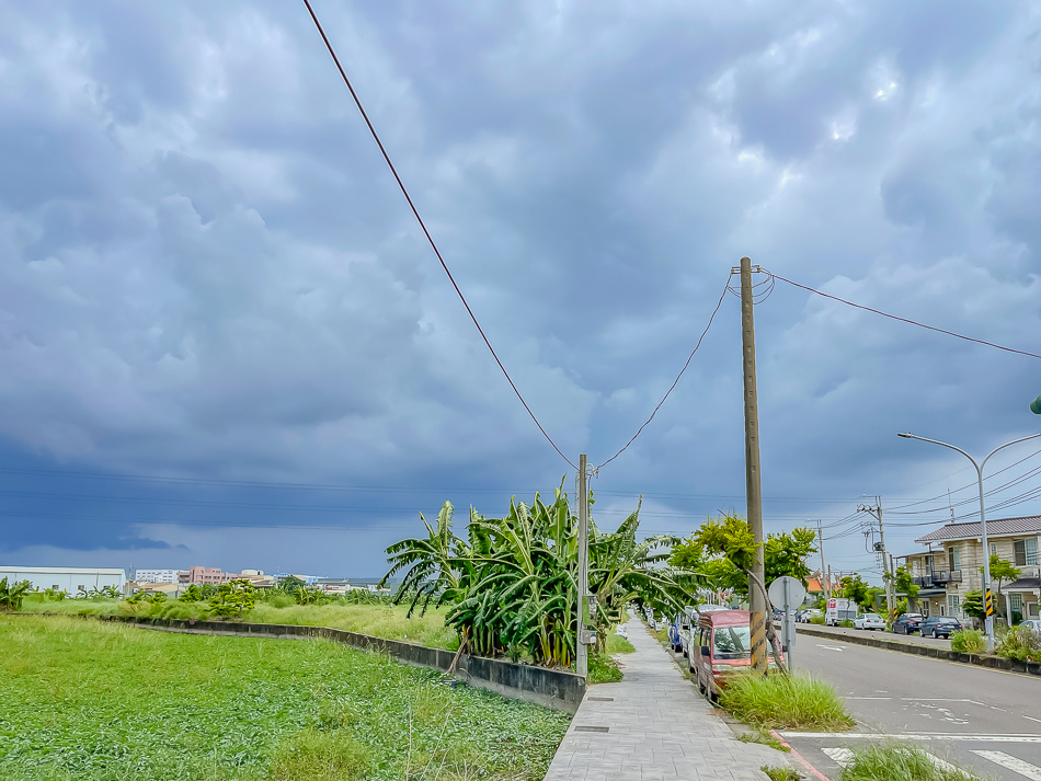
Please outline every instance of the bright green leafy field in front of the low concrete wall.
M569 717L338 643L0 617L0 778L540 779Z

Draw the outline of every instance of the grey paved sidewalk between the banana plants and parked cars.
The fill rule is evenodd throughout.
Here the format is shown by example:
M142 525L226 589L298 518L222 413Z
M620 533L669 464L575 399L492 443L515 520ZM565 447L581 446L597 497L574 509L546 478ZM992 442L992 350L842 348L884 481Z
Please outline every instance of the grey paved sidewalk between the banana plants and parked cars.
M788 765L737 740L643 622L627 625L637 651L619 657L625 679L588 688L545 781L766 781L759 768Z

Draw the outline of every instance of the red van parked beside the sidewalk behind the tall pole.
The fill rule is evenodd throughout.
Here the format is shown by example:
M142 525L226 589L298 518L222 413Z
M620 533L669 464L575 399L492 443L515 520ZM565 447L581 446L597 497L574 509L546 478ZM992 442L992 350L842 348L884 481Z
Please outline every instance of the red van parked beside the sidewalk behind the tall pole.
M687 668L710 699L719 697L727 676L752 667L751 620L747 610L713 610L701 613L691 630ZM769 666L776 666L773 657Z

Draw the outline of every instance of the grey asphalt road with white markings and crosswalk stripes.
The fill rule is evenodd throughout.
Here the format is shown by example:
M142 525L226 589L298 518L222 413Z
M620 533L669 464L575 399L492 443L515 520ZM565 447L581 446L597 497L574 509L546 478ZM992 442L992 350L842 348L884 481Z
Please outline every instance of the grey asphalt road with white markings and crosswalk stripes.
M851 631L851 630L849 630ZM883 740L1003 781L1041 781L1041 678L800 635L796 665L831 681L851 733L782 735L830 779L843 749Z

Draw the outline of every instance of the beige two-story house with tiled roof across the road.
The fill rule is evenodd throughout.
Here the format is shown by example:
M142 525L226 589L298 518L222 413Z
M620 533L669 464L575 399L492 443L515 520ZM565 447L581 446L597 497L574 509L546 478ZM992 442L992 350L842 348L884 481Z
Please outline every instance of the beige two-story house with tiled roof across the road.
M983 542L979 521L947 524L919 537L915 542L928 552L904 556L919 587L918 608L927 616L963 618L965 592L983 589ZM1010 562L1020 572L1018 581L1002 583L1005 605L1002 613L1018 612L1023 618L1038 618L1041 602L1041 516L995 518L987 520L989 554ZM997 596L997 582L991 589Z

